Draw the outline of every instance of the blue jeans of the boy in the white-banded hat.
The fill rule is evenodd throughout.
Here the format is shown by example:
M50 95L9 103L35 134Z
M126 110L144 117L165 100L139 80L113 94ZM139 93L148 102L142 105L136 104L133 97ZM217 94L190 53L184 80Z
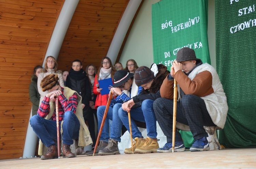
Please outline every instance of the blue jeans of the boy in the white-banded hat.
M121 137L121 130L122 130L123 123L118 116L119 108L122 109L121 103L115 104L113 108L109 107L108 114L106 116L105 123L102 128L101 135L100 135L100 140L108 142L109 138L112 138L119 142L121 141L120 137ZM106 106L99 106L97 108L98 133L100 130L100 126L101 126L101 122L103 119L105 109L106 109ZM109 119L112 120L112 128L111 129L109 129ZM109 136L109 131L110 131L110 136Z

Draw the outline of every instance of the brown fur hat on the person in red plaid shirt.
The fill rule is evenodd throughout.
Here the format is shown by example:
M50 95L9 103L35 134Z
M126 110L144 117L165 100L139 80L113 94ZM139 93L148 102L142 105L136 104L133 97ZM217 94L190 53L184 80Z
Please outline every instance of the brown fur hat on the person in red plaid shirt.
M46 91L46 90L49 90L49 89L52 89L54 84L59 80L59 77L57 74L49 74L49 75L46 75L41 83L40 83L40 86L42 88L42 91Z

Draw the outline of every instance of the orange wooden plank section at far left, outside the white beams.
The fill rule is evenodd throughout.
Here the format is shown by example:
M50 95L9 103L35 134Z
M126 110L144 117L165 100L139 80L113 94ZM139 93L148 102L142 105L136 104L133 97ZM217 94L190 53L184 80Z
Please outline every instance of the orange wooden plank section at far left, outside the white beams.
M64 0L0 0L0 160L23 155L29 84Z

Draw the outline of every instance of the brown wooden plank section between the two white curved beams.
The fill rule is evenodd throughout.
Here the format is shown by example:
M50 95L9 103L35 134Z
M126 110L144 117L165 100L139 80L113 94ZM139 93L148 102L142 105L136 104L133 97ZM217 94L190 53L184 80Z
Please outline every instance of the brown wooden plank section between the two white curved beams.
M69 71L75 59L82 61L84 70L88 64L98 68L128 2L80 0L60 49L58 69Z

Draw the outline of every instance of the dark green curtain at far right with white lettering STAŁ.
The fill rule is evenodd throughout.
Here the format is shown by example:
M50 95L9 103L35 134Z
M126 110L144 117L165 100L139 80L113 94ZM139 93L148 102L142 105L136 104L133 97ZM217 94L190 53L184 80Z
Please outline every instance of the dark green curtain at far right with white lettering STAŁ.
M237 1L237 2L236 2ZM228 101L219 141L256 147L256 1L215 0L216 67Z

